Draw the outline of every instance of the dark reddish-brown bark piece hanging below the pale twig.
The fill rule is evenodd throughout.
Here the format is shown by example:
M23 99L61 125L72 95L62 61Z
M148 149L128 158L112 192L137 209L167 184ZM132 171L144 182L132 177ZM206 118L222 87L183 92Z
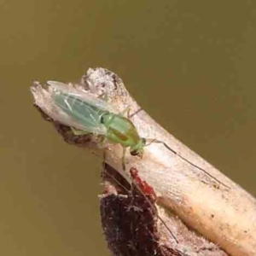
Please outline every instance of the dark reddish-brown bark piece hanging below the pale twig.
M182 255L160 246L154 196L143 195L137 185L127 183L111 166L105 166L102 176L114 183L105 183L105 193L100 197L102 227L113 255ZM154 194L153 189L151 192Z

